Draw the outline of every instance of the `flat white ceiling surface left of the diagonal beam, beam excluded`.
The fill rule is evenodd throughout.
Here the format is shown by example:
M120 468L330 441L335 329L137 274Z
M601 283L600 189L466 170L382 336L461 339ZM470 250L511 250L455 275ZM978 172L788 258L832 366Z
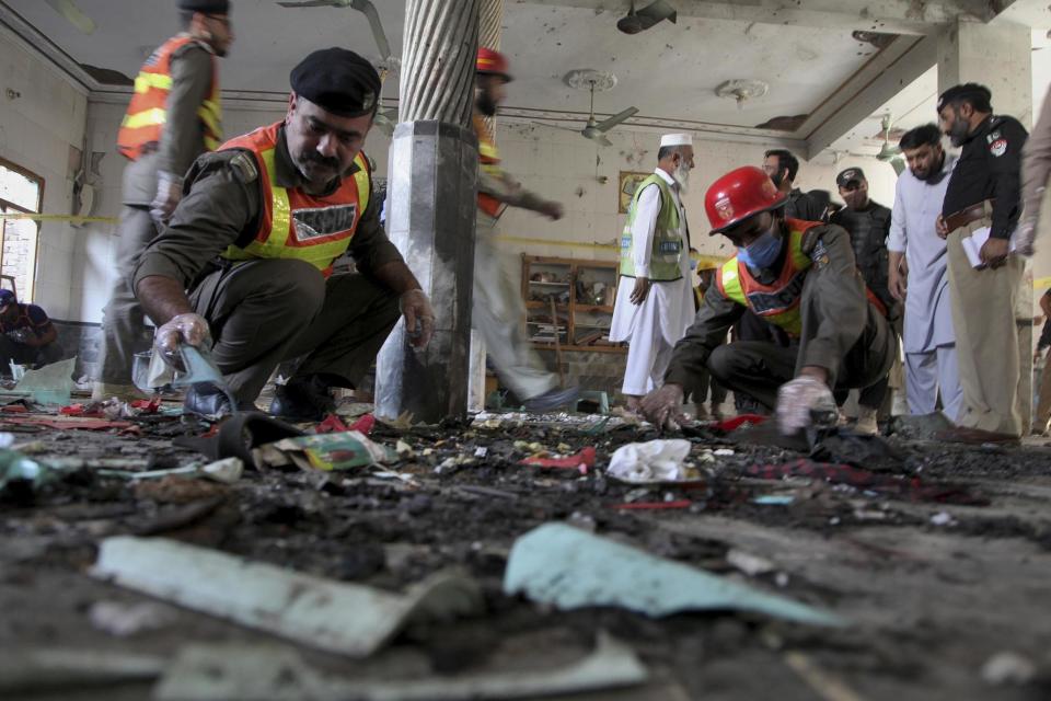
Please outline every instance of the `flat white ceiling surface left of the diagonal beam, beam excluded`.
M92 35L73 28L41 0L5 0L80 64L134 77L142 59L176 27L173 0L77 0L97 24ZM392 51L401 54L405 3L376 0ZM807 113L875 53L848 30L749 24L680 18L628 36L616 30L621 12L506 4L503 48L517 81L508 106L586 112L588 95L562 82L576 68L612 70L620 84L596 99L599 112L628 104L640 116L754 127L781 115ZM222 64L226 90L282 93L288 71L315 47L343 45L379 59L365 16L349 8L287 9L273 0L234 0L238 35ZM770 92L737 108L715 95L730 79L760 79ZM388 88L393 96L396 90Z

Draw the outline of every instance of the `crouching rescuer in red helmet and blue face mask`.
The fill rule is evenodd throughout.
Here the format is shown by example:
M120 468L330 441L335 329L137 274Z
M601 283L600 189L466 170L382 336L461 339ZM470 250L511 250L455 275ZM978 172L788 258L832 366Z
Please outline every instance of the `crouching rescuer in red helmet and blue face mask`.
M719 177L705 194L712 235L737 255L718 272L704 306L675 346L665 384L643 400L659 426L682 421L683 388L707 368L727 389L774 409L792 435L815 416L835 415L833 390L862 389L886 377L898 338L854 263L843 229L786 219L786 196L758 168ZM738 341L726 332L751 310L798 340L798 348Z

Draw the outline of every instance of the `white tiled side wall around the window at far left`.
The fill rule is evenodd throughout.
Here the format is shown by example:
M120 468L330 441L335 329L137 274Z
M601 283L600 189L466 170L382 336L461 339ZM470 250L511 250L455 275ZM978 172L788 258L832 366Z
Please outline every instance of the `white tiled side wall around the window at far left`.
M47 214L70 212L70 151L83 142L86 108L82 88L0 28L0 157L44 179ZM70 307L76 238L66 222L41 226L33 301L56 319L77 317Z

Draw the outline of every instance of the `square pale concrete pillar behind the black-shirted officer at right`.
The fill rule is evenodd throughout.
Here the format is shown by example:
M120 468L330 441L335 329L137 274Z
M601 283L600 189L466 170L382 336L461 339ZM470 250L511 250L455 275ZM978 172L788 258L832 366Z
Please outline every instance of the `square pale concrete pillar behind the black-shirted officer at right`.
M938 92L958 83L981 83L993 93L993 112L1032 126L1032 35L1029 27L994 22L981 24L958 19L938 42ZM1027 265L1019 289L1015 318L1018 321L1018 393L1023 404L1023 433L1029 433L1032 410L1032 352L1036 338L1032 317L1039 313L1032 294L1032 267L1047 267L1051 245Z

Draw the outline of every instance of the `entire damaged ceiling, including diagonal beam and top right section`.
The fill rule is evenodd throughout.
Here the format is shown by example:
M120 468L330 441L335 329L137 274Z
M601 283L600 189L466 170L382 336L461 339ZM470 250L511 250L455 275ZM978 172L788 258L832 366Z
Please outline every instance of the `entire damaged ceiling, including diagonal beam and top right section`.
M627 0L507 0L503 49L517 80L506 113L564 125L584 122L588 95L562 79L569 70L597 68L613 71L619 83L596 94L596 112L608 115L637 105L639 113L628 125L678 124L731 136L783 137L806 141L810 156L829 145L848 150L878 131L878 115L875 128L863 123L853 135L847 134L851 125L836 127L839 134L822 126L851 100L858 83L864 85L866 71L878 73L880 60L889 64L889 57L902 55L940 23L961 14L980 20L994 14L989 3L978 0L799 0L787 8L760 0L670 4L678 10L674 24L663 21L627 35L616 27L627 13ZM997 11L1008 8L1033 22L1048 14L1041 8L1021 16L1019 8L1028 4L1001 2ZM82 34L38 0L2 0L0 19L23 35L34 30L43 34L54 44L53 54L82 66L89 87L102 91L126 91L127 79L177 22L171 0L77 0L77 5L94 21L93 34ZM391 49L400 56L405 3L376 5ZM239 41L221 69L231 96L284 100L285 76L314 47L345 45L381 59L365 15L349 8L290 9L274 0L239 0L233 22ZM917 65L906 81L920 84L898 100L910 103L905 108L933 92L929 79L921 79L925 68ZM718 96L716 88L727 81L761 81L769 90L740 101ZM388 84L385 97L396 99L396 79Z

